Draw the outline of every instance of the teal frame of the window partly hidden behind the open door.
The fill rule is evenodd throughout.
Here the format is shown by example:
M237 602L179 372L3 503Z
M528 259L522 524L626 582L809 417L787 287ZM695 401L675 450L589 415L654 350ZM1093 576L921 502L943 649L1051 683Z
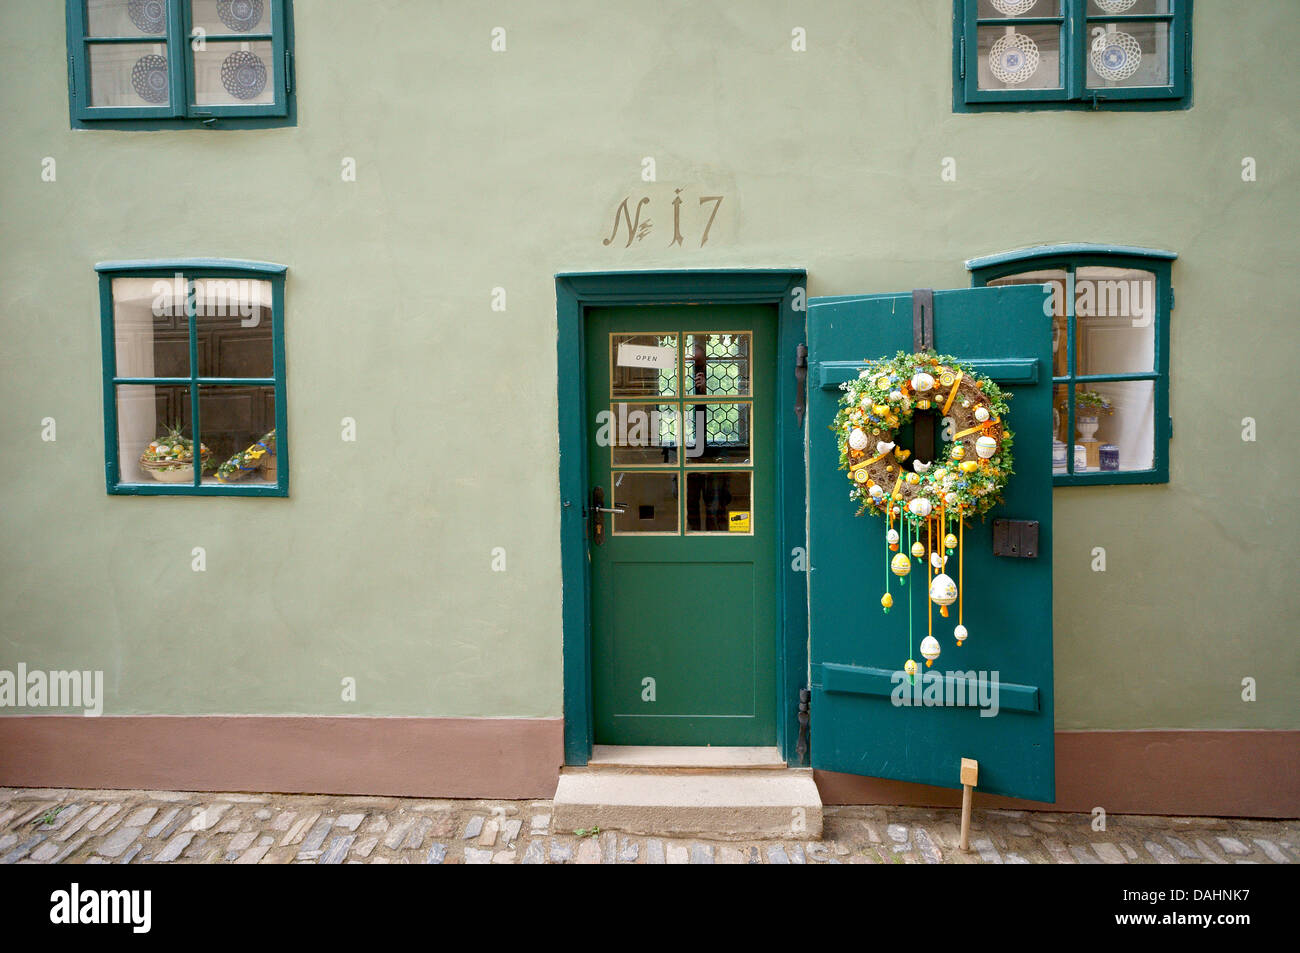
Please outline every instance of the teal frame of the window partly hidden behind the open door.
M1039 244L1030 248L970 259L966 263L971 273L971 287L984 287L991 281L1006 278L1026 272L1061 269L1074 274L1078 268L1101 265L1106 268L1138 268L1156 276L1154 321L1154 360L1150 371L1136 373L1080 374L1075 365L1075 302L1066 294L1066 374L1053 376L1053 385L1066 387L1066 432L1074 433L1075 391L1092 384L1114 381L1153 381L1156 419L1152 434L1152 467L1149 469L1128 471L1087 471L1074 472L1074 451L1066 451L1066 472L1054 473L1054 486L1096 486L1105 484L1167 484L1169 482L1169 442L1174 437L1174 421L1169 415L1169 326L1174 309L1173 263L1175 252L1161 248L1139 248L1122 244ZM1048 293L1048 289L1044 289ZM1048 298L1050 300L1050 298ZM1050 465L1050 462L1044 462Z

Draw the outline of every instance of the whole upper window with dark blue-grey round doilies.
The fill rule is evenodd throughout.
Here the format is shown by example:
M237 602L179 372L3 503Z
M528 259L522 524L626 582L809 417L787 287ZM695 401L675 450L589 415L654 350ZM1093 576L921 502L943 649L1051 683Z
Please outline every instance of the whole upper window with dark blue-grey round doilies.
M287 0L68 0L73 125L287 125Z

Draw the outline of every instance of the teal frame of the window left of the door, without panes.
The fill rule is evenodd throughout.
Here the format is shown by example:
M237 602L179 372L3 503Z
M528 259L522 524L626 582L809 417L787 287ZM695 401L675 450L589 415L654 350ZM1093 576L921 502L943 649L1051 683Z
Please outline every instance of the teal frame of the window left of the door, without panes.
M99 274L100 334L104 361L104 475L108 493L133 497L287 497L289 495L289 428L285 407L285 265L272 261L238 259L159 259L147 261L100 261ZM174 281L179 274L186 287L186 322L190 334L188 377L121 377L117 373L117 348L113 329L113 278L157 278ZM225 278L270 282L272 300L272 377L200 377L195 303L190 293L195 280ZM274 484L203 484L202 472L192 484L127 484L121 482L117 442L117 387L122 385L165 385L190 389L191 437L203 441L203 417L199 386L273 386L276 391L276 482ZM220 462L218 462L220 463ZM199 469L199 468L196 468Z

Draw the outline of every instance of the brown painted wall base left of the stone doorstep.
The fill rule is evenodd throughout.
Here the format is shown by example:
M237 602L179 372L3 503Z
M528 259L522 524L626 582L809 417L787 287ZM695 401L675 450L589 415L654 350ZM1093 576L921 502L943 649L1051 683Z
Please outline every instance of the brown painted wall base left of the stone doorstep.
M543 798L559 718L16 715L0 785Z

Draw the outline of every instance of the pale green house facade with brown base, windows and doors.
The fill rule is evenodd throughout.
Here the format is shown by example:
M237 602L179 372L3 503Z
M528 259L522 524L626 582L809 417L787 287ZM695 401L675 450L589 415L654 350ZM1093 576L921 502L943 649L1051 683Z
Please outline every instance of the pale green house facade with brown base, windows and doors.
M0 23L0 784L1295 813L1290 4ZM928 350L1011 398L965 644L829 429ZM898 703L932 625L996 716Z

